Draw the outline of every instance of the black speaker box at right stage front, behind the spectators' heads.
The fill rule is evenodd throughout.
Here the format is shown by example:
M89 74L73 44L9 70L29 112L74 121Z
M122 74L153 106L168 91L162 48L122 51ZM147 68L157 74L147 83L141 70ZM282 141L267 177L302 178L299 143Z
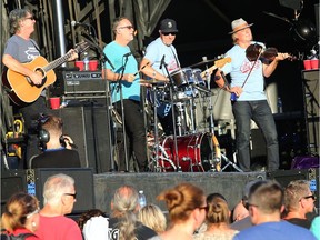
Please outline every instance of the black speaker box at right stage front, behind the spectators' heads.
M319 168L279 170L279 171L267 172L267 179L277 180L283 188L286 188L290 181L294 181L294 180L309 181L310 190L317 197L314 206L317 209L320 209L320 206L319 206Z

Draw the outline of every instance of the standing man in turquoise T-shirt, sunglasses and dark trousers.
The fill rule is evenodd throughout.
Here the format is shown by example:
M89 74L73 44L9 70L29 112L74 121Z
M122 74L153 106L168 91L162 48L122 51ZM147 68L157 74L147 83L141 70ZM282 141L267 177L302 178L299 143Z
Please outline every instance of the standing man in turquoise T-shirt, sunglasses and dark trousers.
M128 18L117 18L112 24L114 40L104 47L103 52L110 59L107 62L107 79L111 84L112 102L119 114L122 114L121 93L124 112L124 126L127 133L127 161L133 156L137 158L139 171L144 171L148 162L147 139L143 112L140 104L140 78L138 62L131 54L128 43L133 40L134 28ZM112 70L112 68L114 69ZM119 86L121 84L121 86ZM128 162L127 162L128 163ZM119 149L119 171L128 171L126 164L124 142Z

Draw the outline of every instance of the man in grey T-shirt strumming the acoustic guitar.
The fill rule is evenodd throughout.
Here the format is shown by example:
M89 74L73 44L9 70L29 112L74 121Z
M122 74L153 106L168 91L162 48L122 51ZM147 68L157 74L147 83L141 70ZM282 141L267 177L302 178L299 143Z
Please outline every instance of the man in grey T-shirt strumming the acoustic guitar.
M34 31L36 19L29 9L14 9L9 13L10 33L12 36L6 43L4 53L2 57L3 64L12 71L19 72L29 77L33 84L40 86L42 77L37 72L28 69L21 63L30 62L40 56L40 49L37 42L30 38ZM73 51L73 50L70 50ZM74 52L69 60L78 58ZM26 80L26 79L23 79ZM41 92L40 97L26 106L16 106L13 103L16 113L21 113L24 120L24 129L28 131L26 160L29 160L33 154L39 153L37 148L38 140L36 132L32 134L32 122L38 119L39 113L49 113L46 101L46 90ZM37 121L34 121L37 128ZM34 130L33 130L34 131ZM20 161L19 168L27 168L27 161Z

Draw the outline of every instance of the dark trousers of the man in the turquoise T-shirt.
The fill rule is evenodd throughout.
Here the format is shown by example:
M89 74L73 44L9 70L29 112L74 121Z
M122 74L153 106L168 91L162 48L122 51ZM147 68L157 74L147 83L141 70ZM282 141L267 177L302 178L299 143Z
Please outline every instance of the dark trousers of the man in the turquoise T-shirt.
M122 116L120 101L116 103L116 108L118 113ZM128 161L130 160L132 153L134 152L134 157L139 166L139 171L140 172L146 171L146 167L148 163L147 139L146 139L143 112L140 107L140 102L124 99L123 110L124 110L124 126L127 133ZM121 144L119 148L118 170L120 171L128 170L126 169L124 144Z

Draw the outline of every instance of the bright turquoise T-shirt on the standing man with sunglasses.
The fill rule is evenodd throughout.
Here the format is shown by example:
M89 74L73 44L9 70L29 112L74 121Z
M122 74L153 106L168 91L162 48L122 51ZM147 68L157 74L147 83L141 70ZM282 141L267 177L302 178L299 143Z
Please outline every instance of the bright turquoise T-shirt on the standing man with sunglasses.
M111 71L121 73L123 66L126 63L127 57L124 54L131 52L128 46L120 46L116 41L110 42L103 49L104 54L113 64L114 69L107 62L106 68L111 69ZM126 64L126 69L123 74L138 72L138 62L132 54L128 57L128 62ZM108 79L108 76L107 76ZM139 83L139 74L137 74L133 82L121 81L122 88L122 97L123 99L131 99L136 101L140 101L140 83ZM120 90L119 82L111 82L111 92L112 92L112 102L117 102L120 100Z

